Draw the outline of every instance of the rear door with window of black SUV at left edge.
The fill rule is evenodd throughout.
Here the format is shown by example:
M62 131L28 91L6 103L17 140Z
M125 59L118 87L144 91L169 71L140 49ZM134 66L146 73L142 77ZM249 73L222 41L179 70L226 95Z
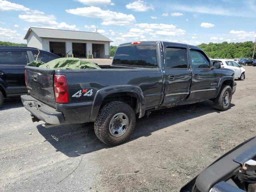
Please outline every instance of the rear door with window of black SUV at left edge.
M7 96L18 96L27 92L24 72L31 62L26 50L0 51L0 81L6 87Z

